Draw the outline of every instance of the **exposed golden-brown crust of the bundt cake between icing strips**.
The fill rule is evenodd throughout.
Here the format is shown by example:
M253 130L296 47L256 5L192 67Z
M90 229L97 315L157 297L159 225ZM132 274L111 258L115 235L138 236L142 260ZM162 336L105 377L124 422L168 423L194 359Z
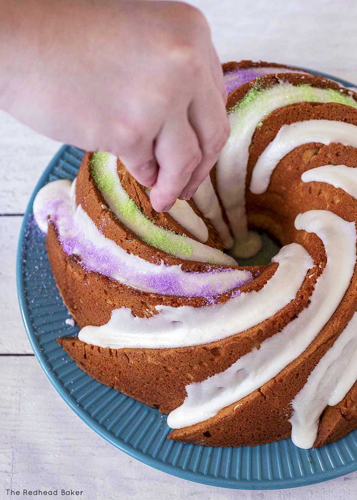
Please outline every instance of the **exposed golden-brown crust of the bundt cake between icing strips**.
M303 83L339 88L324 78L310 75L303 77ZM261 77L259 81L268 86L278 79L295 84L302 82L301 75L290 73L283 73L277 77L274 75ZM229 105L240 100L249 88L251 84L247 83L232 92L230 100L228 99ZM270 113L264 119L263 126L256 129L252 139L247 186L257 157L274 138L281 125L304 119L336 119L357 124L357 111L341 104L303 102L284 106ZM327 208L345 220L355 220L357 201L341 189L326 184L319 182L305 184L300 179L301 173L324 164L344 163L356 167L356 154L354 148L341 144L332 143L328 146L320 143L304 144L288 153L278 163L264 194L253 195L246 189L250 224L268 230L282 244L291 241L301 243L314 260L314 267L308 272L308 274L314 273L314 278L309 280L305 278L295 299L278 313L244 332L217 342L191 347L109 349L88 345L76 338L60 338L58 342L78 366L95 379L151 406L158 406L162 412L171 411L182 403L186 394L186 384L204 380L214 373L225 370L252 347L259 347L265 338L281 330L307 306L315 280L325 266L326 255L321 240L315 234L294 229L293 220L301 211L301 206L304 210ZM106 215L101 209L100 194L90 179L89 159L90 156L86 156L85 167L81 167L79 171L77 202L82 204L94 221L98 221L99 217ZM120 223L115 223L118 229L115 227L113 233L105 235L128 251L152 260L152 247L149 247L148 252L148 245L140 242L138 238L136 246L131 247L126 239L131 239L132 234L121 227ZM147 314L147 310L154 312L154 306L157 304L172 306L204 304L204 299L199 297L187 299L139 292L110 281L105 276L93 272L86 273L75 258L63 252L52 225L49 226L47 235L47 249L58 289L79 326L104 324L108 321L111 310L120 306L130 307L135 315L143 317ZM156 249L154 252L154 259L159 259L160 252L157 253ZM170 256L166 261L177 263L177 259ZM186 262L185 268L194 269L197 265L199 266L199 263ZM275 269L276 264L266 267L265 270L261 268L260 275L245 285L244 290L254 293L255 289L259 289L271 277ZM243 291L243 287L241 290ZM229 296L223 294L220 300L225 301ZM82 297L85 297L85 301ZM350 285L336 311L301 355L273 379L240 400L238 405L234 403L227 406L204 422L176 429L169 437L184 442L214 446L237 446L261 444L290 435L291 426L288 422L291 416L290 401L305 384L309 373L333 344L356 309L357 277L354 271ZM352 395L348 401L356 399ZM343 408L347 407L351 408L351 404L346 402ZM351 426L357 423L354 416L346 418L346 413L347 410L343 413L342 406L326 409L321 418L316 445L338 438L336 436L341 437L344 431L348 432ZM353 411L350 414L354 415ZM346 430L347 428L349 430Z

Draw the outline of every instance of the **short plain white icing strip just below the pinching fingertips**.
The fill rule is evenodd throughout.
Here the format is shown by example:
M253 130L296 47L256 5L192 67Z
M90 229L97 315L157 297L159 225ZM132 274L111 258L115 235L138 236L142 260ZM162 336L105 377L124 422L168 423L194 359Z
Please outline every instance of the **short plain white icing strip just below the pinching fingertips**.
M149 197L150 190L145 189ZM208 239L208 229L202 218L196 214L191 205L183 199L176 199L173 206L167 213L188 232L198 239L201 243L205 243Z

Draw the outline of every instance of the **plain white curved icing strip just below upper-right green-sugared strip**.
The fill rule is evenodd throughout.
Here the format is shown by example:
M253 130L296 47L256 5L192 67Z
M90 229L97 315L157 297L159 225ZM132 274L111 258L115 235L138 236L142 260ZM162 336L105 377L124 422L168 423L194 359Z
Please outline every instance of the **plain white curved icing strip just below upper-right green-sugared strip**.
M295 147L309 142L339 142L357 147L357 126L337 120L305 120L283 125L260 154L251 175L250 191L266 191L277 163ZM308 172L306 172L308 173Z

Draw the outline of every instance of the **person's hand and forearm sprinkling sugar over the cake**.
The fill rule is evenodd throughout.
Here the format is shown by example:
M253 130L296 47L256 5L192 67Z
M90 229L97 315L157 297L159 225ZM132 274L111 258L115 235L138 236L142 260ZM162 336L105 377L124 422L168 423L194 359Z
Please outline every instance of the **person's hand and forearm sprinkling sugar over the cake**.
M157 211L191 197L229 135L203 15L176 1L14 4L0 105L52 138L118 155Z

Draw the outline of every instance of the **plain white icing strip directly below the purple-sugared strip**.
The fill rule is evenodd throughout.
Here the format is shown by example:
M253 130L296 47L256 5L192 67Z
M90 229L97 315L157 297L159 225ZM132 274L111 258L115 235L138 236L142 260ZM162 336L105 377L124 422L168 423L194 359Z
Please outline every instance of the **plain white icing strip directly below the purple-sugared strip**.
M283 246L272 261L279 265L258 291L205 307L156 305L158 314L149 318L134 317L130 309L121 307L112 311L106 324L84 326L78 338L112 349L161 348L212 342L246 330L292 300L313 266L308 252L297 243Z

